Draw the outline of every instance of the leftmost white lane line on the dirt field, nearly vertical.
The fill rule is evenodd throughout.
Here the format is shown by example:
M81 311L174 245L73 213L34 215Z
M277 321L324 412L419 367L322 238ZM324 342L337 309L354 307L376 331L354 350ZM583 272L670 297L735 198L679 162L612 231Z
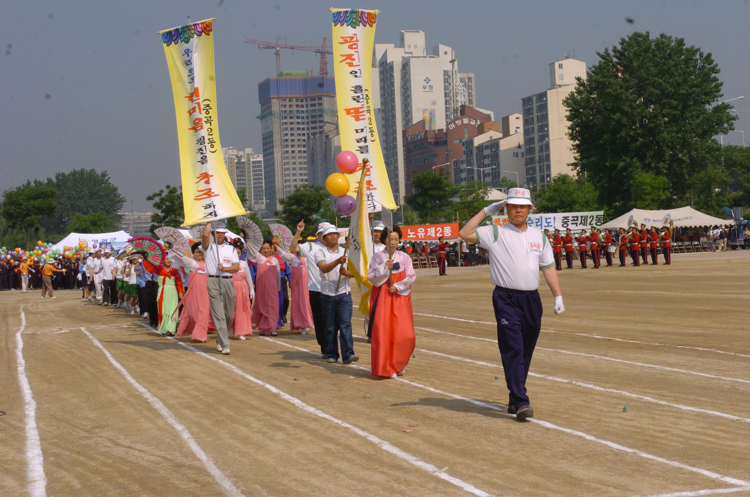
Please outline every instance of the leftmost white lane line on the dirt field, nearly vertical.
M31 497L46 497L46 476L44 474L44 458L42 445L37 430L37 402L31 395L31 386L26 378L26 360L23 358L23 337L21 333L26 328L26 314L21 306L21 328L16 333L16 360L18 381L21 384L24 411L26 412L26 477L28 479L28 493Z

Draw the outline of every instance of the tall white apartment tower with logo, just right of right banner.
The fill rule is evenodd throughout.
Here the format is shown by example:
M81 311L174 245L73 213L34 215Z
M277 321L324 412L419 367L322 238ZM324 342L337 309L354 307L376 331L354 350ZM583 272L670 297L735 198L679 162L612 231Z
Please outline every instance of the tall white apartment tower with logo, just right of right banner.
M377 78L380 87L378 129L398 204L407 193L402 131L422 120L428 130L445 129L446 122L458 117L460 105L469 102L468 83L460 86L458 61L451 47L438 44L428 55L422 31L402 31L400 41L401 47L376 44L373 48L373 82ZM471 101L475 102L474 76L463 76L472 81Z

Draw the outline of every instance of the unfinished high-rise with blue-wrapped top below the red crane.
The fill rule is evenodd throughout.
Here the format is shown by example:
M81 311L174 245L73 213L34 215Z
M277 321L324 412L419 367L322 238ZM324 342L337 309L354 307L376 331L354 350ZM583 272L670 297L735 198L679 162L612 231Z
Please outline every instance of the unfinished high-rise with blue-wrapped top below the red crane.
M265 209L308 182L308 140L335 128L336 87L327 76L286 71L258 84Z

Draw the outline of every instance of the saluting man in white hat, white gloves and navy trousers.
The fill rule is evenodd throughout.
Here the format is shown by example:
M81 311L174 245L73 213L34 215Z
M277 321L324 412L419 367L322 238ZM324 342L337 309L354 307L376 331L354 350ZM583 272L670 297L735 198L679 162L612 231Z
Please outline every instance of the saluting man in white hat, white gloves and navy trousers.
M515 414L519 420L534 415L526 395L526 376L541 330L539 270L554 296L553 312L565 311L552 247L540 230L526 224L532 205L529 190L510 188L507 200L485 207L459 233L462 239L478 244L490 255L497 343L505 384L510 391L508 413ZM484 218L495 214L501 206L505 206L508 224L479 227Z

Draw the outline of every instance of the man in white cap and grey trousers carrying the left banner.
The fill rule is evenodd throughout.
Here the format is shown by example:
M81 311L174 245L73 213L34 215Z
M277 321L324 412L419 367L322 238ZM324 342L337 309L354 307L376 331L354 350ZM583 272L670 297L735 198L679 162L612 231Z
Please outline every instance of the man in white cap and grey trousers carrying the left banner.
M205 223L200 248L205 261L205 273L208 275L208 300L216 327L217 350L229 355L228 328L234 317L236 296L232 273L239 271L239 257L236 248L224 243L226 233L229 230L221 221L214 222L213 231L211 222Z

